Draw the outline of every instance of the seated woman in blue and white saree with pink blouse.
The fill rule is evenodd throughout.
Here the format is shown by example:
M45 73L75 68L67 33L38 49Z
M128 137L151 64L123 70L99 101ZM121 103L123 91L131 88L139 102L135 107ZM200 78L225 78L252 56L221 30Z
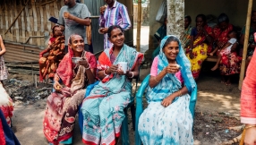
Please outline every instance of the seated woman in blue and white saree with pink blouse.
M139 134L144 145L193 144L189 92L195 88L190 62L175 36L161 42L160 54L151 66L146 98L149 106L141 114Z

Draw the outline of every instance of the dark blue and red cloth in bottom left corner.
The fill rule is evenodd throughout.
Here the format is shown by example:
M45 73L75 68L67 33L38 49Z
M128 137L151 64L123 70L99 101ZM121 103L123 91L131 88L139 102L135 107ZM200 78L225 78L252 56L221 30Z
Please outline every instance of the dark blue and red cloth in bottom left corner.
M5 121L4 113L0 110L0 144L21 145L10 126Z

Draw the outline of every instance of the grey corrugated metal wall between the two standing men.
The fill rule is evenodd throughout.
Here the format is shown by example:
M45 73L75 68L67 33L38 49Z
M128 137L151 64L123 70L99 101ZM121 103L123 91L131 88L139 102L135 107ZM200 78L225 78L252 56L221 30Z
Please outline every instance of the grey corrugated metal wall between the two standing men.
M93 18L91 19L91 40L94 53L104 49L104 38L103 35L98 33L98 16L99 7L104 5L104 0L85 0L84 4L87 5Z

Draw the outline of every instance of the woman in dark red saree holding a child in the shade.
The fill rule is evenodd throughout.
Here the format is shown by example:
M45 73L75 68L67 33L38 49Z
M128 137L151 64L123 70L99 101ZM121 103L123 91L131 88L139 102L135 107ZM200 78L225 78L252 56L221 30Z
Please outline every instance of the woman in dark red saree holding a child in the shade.
M216 48L220 49L226 45L228 42L228 34L233 30L233 26L229 23L228 16L225 13L221 13L218 16L218 25L213 29L214 43ZM219 70L221 74L221 83L230 85L230 76L239 73L239 63L240 58L235 52L237 43L233 44L231 47L231 52L229 54L221 55L219 62ZM218 51L219 53L219 51ZM212 53L210 55L213 55Z

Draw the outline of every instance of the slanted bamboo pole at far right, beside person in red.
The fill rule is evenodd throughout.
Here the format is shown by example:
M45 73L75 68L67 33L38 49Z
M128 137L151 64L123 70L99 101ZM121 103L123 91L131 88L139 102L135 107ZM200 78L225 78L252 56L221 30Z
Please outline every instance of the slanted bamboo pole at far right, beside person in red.
M242 89L244 73L245 73L245 63L246 63L247 47L248 47L248 40L249 40L251 15L252 15L252 0L249 0L247 18L246 18L246 26L245 26L246 29L245 29L245 36L244 36L244 43L243 43L243 59L242 59L240 80L239 80L239 86L238 86L239 90Z

